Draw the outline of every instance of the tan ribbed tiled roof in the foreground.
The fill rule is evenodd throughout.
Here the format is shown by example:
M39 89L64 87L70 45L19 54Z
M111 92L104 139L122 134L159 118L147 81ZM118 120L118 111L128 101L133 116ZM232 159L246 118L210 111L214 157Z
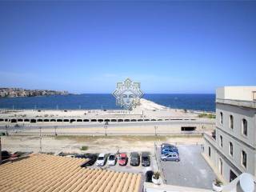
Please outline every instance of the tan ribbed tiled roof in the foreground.
M139 191L141 174L82 168L82 158L32 154L0 166L0 191L132 192Z

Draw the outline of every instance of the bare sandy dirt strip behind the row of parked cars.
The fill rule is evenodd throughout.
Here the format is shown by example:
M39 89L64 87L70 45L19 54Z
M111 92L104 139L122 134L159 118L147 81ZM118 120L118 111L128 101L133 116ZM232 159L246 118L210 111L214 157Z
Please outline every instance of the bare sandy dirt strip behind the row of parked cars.
M40 138L36 136L3 136L2 150L15 151L40 151ZM66 153L130 153L131 151L154 152L154 142L169 142L176 145L202 144L202 136L46 136L42 137L42 151ZM82 146L88 150L81 150Z

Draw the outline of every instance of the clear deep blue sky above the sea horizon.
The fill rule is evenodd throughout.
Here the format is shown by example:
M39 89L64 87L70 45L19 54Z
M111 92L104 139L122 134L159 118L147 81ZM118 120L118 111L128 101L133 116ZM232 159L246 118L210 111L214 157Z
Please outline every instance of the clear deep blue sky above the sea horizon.
M256 2L0 2L0 86L214 93L256 85Z

